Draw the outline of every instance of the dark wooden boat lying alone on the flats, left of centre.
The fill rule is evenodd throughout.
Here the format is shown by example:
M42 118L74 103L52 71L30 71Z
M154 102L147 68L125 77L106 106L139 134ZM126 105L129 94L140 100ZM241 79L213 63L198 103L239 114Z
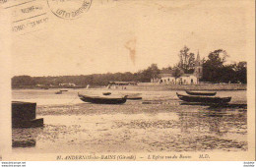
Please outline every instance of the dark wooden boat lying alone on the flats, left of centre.
M85 95L79 94L79 98L85 102L91 102L96 104L123 104L126 102L126 96L97 96L97 95Z

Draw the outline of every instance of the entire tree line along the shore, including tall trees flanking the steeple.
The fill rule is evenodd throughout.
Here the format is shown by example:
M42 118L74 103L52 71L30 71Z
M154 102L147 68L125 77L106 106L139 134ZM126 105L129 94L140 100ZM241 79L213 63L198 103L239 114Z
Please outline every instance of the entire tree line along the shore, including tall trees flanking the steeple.
M152 64L145 70L137 73L106 73L80 76L58 76L58 77L31 77L15 76L12 78L13 88L32 87L38 84L58 86L59 83L75 83L82 87L87 84L107 85L109 82L137 82L149 83L152 79L160 79L160 73L171 71L175 78L182 74L192 74L195 70L195 54L189 52L189 48L184 46L179 54L179 62L174 66L160 69L157 64ZM209 83L247 83L246 62L225 64L229 55L224 49L218 49L209 53L202 61L203 77L201 82Z

